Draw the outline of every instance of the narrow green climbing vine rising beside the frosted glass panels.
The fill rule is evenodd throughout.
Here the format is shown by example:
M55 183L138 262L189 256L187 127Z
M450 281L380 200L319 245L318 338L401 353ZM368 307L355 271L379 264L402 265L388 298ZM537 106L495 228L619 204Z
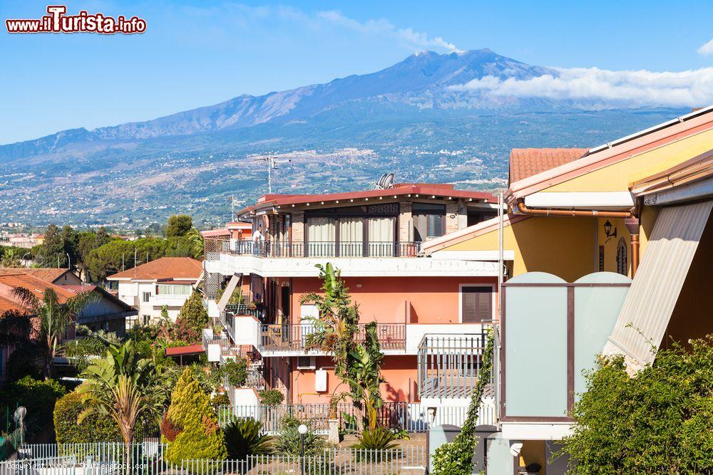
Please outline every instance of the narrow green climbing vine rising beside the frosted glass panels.
M448 442L436 449L434 454L434 475L470 475L473 471L473 451L478 442L476 437L476 423L478 422L478 409L481 407L483 393L491 382L493 370L493 351L495 343L493 330L488 330L487 343L483 351L483 366L479 372L476 388L471 395L468 405L466 421L463 422L461 433L453 442Z

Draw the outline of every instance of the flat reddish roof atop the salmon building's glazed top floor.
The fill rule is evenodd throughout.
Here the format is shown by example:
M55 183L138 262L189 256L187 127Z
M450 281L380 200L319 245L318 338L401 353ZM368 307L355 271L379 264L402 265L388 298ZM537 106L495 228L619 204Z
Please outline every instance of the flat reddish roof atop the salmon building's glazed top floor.
M257 204L241 209L240 216L254 209L285 204L307 204L330 202L343 199L364 199L379 197L398 197L406 194L420 194L422 198L431 196L474 199L485 203L495 203L498 199L491 193L473 192L465 189L455 189L446 183L399 183L389 189L368 189L361 192L344 192L329 194L265 194L257 199Z

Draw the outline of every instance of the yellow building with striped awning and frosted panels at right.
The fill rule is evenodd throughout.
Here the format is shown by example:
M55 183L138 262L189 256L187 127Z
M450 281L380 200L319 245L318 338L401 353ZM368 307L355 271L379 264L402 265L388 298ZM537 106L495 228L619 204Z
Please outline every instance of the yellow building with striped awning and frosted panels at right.
M488 472L552 461L583 370L636 372L673 340L713 333L713 106L592 150L511 154L503 219L499 432ZM424 244L440 259L499 251L491 219ZM514 457L513 457L514 455Z

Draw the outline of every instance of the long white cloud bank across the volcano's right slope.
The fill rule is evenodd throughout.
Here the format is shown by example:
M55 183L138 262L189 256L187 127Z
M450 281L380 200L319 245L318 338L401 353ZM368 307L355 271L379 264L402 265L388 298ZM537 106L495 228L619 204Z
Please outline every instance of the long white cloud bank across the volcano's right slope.
M494 76L451 86L517 98L603 100L629 105L703 106L713 103L713 68L691 71L607 71L599 68L553 68L558 75L530 79Z

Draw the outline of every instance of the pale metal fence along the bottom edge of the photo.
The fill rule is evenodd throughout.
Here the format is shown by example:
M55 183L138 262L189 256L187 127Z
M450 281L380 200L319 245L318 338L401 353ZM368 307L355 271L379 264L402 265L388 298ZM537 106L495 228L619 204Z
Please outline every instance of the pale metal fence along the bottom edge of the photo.
M320 454L250 455L243 460L188 459L169 464L163 455L166 446L155 444L154 454L145 454L144 443L133 444L129 465L131 475L361 475L421 474L426 471L425 447L391 450L330 448ZM0 475L123 475L126 465L121 442L98 444L27 444L18 460L0 463ZM48 455L44 454L64 454Z

